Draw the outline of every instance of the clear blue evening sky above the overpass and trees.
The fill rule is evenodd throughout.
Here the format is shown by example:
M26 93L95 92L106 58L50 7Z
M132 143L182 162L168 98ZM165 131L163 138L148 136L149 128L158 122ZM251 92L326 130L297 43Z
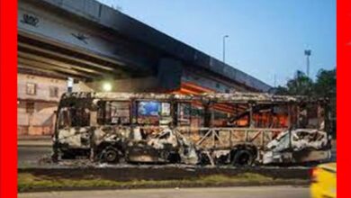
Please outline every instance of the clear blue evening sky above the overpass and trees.
M269 85L336 67L336 0L99 0ZM276 84L275 84L276 82Z

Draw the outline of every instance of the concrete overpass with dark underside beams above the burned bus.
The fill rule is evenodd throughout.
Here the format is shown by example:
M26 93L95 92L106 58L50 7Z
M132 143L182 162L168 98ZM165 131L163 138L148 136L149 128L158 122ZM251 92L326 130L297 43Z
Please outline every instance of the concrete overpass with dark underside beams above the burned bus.
M253 76L94 0L19 0L20 72L71 76L99 91L259 91Z

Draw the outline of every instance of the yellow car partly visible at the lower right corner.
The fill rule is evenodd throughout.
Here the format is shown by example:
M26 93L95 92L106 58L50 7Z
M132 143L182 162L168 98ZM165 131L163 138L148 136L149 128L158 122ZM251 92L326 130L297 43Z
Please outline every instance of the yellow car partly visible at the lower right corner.
M322 164L311 170L311 197L337 197L337 163Z

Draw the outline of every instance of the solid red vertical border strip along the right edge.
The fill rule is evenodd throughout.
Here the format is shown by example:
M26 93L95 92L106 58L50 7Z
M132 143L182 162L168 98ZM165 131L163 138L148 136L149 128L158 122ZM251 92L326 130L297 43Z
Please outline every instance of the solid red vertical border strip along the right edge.
M337 133L338 133L338 197L349 197L349 162L351 131L347 126L350 121L351 103L350 70L351 70L351 1L337 2ZM348 81L348 82L347 82Z

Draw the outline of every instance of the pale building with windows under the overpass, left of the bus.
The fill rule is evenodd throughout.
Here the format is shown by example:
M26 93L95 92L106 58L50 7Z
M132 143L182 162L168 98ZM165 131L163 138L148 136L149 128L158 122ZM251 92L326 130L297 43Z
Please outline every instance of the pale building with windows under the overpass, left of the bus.
M67 79L33 72L17 75L17 133L49 135L61 94L67 91Z

